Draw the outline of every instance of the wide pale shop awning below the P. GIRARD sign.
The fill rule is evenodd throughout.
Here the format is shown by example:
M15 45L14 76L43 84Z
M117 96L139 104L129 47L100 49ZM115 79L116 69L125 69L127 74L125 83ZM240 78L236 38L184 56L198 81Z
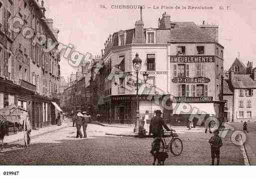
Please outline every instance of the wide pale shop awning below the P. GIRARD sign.
M173 103L173 114L216 115L214 103Z

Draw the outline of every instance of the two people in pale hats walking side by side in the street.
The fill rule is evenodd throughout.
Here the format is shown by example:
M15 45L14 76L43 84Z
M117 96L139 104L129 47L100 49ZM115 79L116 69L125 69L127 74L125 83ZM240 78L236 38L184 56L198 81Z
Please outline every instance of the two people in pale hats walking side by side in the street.
M87 138L86 129L87 124L90 122L90 115L86 114L87 112L81 113L80 110L77 110L77 113L73 114L72 121L73 127L76 126L76 138L82 138L81 127L83 127L84 138Z

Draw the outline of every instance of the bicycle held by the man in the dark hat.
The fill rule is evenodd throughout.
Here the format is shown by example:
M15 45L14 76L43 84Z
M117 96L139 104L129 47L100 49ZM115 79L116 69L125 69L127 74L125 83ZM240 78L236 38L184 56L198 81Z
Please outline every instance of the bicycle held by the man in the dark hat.
M176 132L164 132L168 133L169 135L163 135L163 137L157 137L152 142L152 149L155 151L160 151L162 149L162 152L171 152L174 156L180 156L183 151L183 143L179 136L176 134ZM166 137L172 137L169 144L167 145L165 138ZM163 138L163 139L162 139Z

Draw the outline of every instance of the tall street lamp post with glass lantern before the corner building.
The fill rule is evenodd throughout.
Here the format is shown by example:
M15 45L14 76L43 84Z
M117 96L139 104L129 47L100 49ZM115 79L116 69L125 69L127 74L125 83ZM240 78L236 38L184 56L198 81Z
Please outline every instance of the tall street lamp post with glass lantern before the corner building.
M139 70L141 69L141 63L142 60L139 58L139 54L136 53L135 58L132 60L133 63L133 68L136 71L136 76L137 76L137 80L136 80L136 101L137 101L137 109L136 109L136 123L135 123L135 127L134 127L134 132L138 132L139 133L139 126L140 126L140 111L139 111L139 96L138 96L138 91L139 91L139 77L138 77L138 73Z

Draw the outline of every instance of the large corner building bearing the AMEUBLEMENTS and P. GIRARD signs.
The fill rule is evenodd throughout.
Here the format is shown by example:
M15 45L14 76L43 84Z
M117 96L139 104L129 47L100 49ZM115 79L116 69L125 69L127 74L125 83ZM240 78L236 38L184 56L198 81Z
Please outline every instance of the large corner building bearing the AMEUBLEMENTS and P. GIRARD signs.
M160 109L166 122L187 125L191 114L222 114L224 47L218 43L218 26L173 22L165 12L158 28L144 28L141 16L135 28L115 32L104 45L106 121L135 123L136 53L142 60L140 86L142 74L149 74L146 88L139 91L140 116L148 110L152 117ZM181 110L184 103L191 110Z

